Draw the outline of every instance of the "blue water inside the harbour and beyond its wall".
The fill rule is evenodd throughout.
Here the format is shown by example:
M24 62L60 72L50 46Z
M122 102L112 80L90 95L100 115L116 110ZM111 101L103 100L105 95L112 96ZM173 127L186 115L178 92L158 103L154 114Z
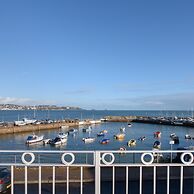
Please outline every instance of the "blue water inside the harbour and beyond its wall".
M187 117L192 116L191 111L96 111L96 110L67 110L67 111L0 111L0 118L3 121L14 121L19 118L27 117L33 118L34 116L38 120L42 119L99 119L107 115L117 116L128 116L128 115L142 115L142 116L179 116ZM116 140L113 136L120 133L120 128L125 127L125 138ZM170 134L176 133L180 138L180 144L173 145L172 149L178 147L188 147L194 145L194 140L186 140L185 134L194 136L194 129L189 127L181 126L166 126L166 125L153 125L143 123L133 123L132 127L128 127L127 123L117 122L105 122L98 125L92 125L92 131L90 133L84 133L82 131L83 126L78 128L78 132L74 135L70 134L67 143L60 146L43 145L42 143L27 146L25 144L26 138L32 133L18 133L18 134L7 134L0 136L0 149L24 149L24 150L119 150L120 147L124 146L127 150L150 150L153 147L154 141L157 139L153 133L160 131L162 133L159 141L161 142L162 150L171 149L169 145ZM99 141L103 137L97 137L97 133L101 130L106 129L108 133L106 138L110 139L110 142L106 145L102 145ZM61 129L46 130L36 132L36 134L44 135L45 138L54 138L61 131ZM139 137L146 136L144 141L138 141ZM95 137L95 141L92 143L84 143L83 138ZM128 147L127 142L130 139L136 139L137 145Z

